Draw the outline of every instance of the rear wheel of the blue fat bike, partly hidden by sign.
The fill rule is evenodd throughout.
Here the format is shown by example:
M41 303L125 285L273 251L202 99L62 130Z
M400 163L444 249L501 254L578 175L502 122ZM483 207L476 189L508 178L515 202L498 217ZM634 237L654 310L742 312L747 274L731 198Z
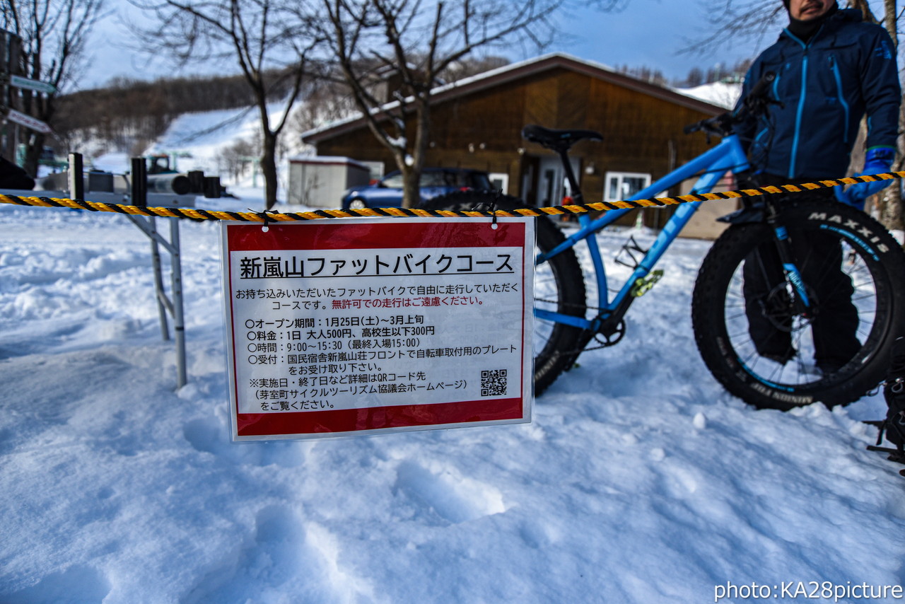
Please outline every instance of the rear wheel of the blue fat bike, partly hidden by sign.
M525 207L517 197L500 196L487 191L460 191L441 197L433 197L424 204L427 210L469 211L491 202L501 210ZM546 216L536 218L538 253L546 253L566 238L557 225ZM545 308L576 317L585 317L585 279L571 248L535 266L534 307ZM554 321L534 320L534 393L539 395L559 375L572 367L584 348L585 331Z

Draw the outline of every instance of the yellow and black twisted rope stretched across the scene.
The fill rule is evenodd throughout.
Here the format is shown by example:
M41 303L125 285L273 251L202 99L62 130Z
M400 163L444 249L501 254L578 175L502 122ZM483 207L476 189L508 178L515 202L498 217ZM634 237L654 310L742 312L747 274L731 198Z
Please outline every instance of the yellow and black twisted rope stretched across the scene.
M802 183L799 185L781 185L778 187L746 188L738 191L723 191L720 193L704 193L700 195L682 195L678 197L655 197L653 199L638 199L635 201L598 201L592 204L549 206L549 207L524 207L514 210L486 210L453 211L453 210L425 210L420 208L402 207L375 207L349 210L314 210L311 212L225 212L220 210L205 210L189 207L144 207L128 206L124 204L106 204L84 199L59 199L54 197L17 197L0 194L0 203L14 204L17 206L36 207L67 207L71 209L90 210L92 212L115 212L130 214L133 216L161 216L164 218L187 218L190 220L238 220L243 222L291 222L299 220L319 220L322 218L352 218L352 217L379 217L394 218L404 217L429 217L429 216L559 216L564 214L584 214L587 212L607 212L610 210L675 206L696 201L713 201L717 199L737 199L739 197L757 197L762 195L776 195L781 193L800 193L815 189L839 187L841 185L854 185L861 182L875 182L878 180L894 180L905 178L905 172L883 172L881 174L864 175L860 177L843 177L834 180L819 180L817 182Z

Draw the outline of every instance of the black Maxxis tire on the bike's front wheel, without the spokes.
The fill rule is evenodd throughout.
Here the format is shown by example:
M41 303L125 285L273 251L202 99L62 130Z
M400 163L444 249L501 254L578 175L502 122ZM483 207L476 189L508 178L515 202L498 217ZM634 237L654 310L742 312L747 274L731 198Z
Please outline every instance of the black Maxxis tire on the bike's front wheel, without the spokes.
M691 319L701 358L713 376L738 398L759 408L788 410L821 401L827 407L846 405L884 379L893 340L905 328L905 254L900 244L871 216L832 202L802 200L782 210L792 236L830 230L851 244L869 270L876 291L872 331L862 350L838 374L804 385L771 384L748 368L729 338L725 321L726 294L738 265L773 238L765 224L732 225L710 248L700 267L691 304ZM801 235L799 235L801 236Z

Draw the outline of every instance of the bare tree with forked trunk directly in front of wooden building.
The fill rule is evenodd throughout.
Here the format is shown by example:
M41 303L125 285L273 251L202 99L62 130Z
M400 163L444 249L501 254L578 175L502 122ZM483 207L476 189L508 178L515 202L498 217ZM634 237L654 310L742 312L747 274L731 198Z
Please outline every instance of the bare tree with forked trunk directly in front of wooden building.
M431 100L455 62L501 44L543 47L553 15L567 0L320 0L322 37L338 60L368 128L389 149L405 183L403 206L416 206L431 129ZM612 9L622 0L587 0ZM392 99L376 74L392 74ZM406 124L411 121L411 130Z

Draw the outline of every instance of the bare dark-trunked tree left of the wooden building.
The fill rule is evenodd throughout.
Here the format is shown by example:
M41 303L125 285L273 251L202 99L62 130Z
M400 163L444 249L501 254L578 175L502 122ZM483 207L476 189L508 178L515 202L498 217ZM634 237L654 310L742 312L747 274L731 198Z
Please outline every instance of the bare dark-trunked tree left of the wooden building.
M299 99L306 65L318 39L306 0L129 0L154 14L157 25L140 30L148 53L167 53L180 67L210 61L239 65L261 118L261 171L265 201L277 201L278 139ZM277 77L269 77L276 73ZM268 105L281 101L281 114Z

